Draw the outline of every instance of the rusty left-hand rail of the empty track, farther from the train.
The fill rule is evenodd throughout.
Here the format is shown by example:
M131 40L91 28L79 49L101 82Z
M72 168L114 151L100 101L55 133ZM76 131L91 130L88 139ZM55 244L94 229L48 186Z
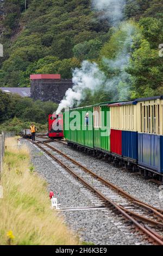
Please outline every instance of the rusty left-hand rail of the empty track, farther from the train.
M45 148L41 147L40 144L33 142L33 144L37 145L42 151L44 151L47 155L51 156L52 159L57 161L62 167L68 170L69 173L71 173L75 178L77 178L79 181L81 181L86 187L88 187L93 193L97 194L104 202L105 205L111 208L112 210L118 211L120 214L122 214L123 217L125 217L127 220L129 220L130 224L134 224L136 228L138 228L143 234L145 234L149 240L152 240L155 245L163 245L163 238L154 231L150 231L143 225L141 225L139 222L137 222L133 217L131 217L129 214L127 214L123 209L122 206L118 206L116 203L112 202L108 197L105 197L101 192L99 192L95 187L92 187L89 183L87 183L82 177L80 177L77 173L73 172L71 168L66 166L62 161L60 161L57 157L55 157L53 154L51 154L49 151L47 151ZM161 237L161 239L159 238Z

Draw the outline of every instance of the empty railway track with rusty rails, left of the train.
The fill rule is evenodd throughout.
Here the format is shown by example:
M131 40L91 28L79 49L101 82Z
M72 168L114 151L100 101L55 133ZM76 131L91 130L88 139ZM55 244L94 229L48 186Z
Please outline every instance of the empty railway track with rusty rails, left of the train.
M50 140L33 142L57 161L84 186L96 194L105 207L126 218L146 239L155 245L163 245L163 210L130 196L121 188L93 173L82 164L48 144Z

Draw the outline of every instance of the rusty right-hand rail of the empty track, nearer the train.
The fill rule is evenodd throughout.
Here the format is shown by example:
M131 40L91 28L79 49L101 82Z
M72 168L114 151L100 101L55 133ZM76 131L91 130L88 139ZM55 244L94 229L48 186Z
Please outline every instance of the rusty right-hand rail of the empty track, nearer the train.
M163 213L163 210L155 208L152 205L149 205L147 203L142 202L141 200L131 196L129 193L127 193L126 191L122 190L120 187L117 187L116 185L112 184L111 182L105 180L104 178L102 178L101 176L93 173L91 170L87 169L85 166L83 166L81 163L79 163L78 161L72 159L70 156L67 156L66 154L62 153L62 151L60 151L59 149L45 143L42 142L44 145L46 145L46 147L57 151L60 155L64 156L66 159L72 161L74 164L77 164L79 167L81 167L82 169L84 169L86 172L90 173L92 176L94 176L95 178L97 178L98 180L102 181L104 184L110 186L111 188L113 188L114 190L116 190L118 193L122 194L123 196L127 197L128 199L130 199L133 203L142 206L142 208L145 208L148 211L153 212L153 214L155 214L158 218L160 218L160 220L163 220L163 215L160 213Z

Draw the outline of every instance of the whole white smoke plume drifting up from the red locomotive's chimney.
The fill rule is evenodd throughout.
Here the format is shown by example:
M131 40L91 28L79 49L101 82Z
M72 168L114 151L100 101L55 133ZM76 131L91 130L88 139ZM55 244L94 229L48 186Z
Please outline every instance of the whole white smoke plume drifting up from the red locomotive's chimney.
M122 17L122 8L126 1L124 0L92 0L93 7L97 10L104 10L105 15L114 18L114 22L120 21ZM112 13L110 14L110 10ZM114 16L114 17L113 17ZM64 99L60 102L57 109L57 114L66 107L73 107L85 99L85 89L90 89L91 93L98 90L103 90L111 95L112 100L128 100L130 94L129 75L126 68L130 59L130 47L132 44L132 35L134 27L130 23L124 23L121 30L126 33L126 41L122 42L121 52L117 52L116 59L103 58L103 63L108 70L112 71L111 78L106 78L96 63L84 61L80 69L76 68L73 71L74 86L67 90Z

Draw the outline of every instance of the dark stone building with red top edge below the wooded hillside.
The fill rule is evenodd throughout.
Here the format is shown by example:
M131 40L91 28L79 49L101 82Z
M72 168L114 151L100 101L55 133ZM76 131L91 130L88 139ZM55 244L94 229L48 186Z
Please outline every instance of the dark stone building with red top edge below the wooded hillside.
M30 75L32 99L59 103L66 90L72 87L71 79L61 79L60 75Z

